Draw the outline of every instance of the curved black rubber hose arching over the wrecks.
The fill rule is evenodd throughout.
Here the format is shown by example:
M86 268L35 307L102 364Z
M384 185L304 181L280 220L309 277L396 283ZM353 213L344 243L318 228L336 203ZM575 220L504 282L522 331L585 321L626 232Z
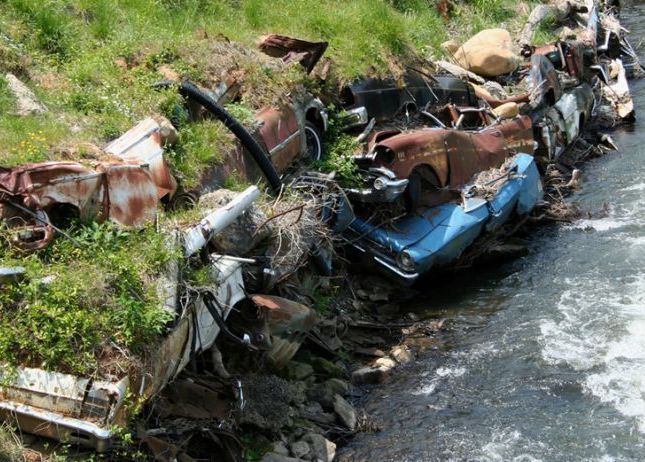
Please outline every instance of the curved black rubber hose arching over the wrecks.
M157 87L168 87L176 85L176 82L164 80L158 82L155 86ZM253 160L258 164L260 170L264 174L265 178L269 182L269 186L274 191L280 191L282 188L282 180L280 180L280 175L276 171L275 167L271 163L271 160L265 153L264 149L260 144L251 136L244 126L239 123L235 117L233 117L229 112L224 109L220 104L217 103L211 96L204 93L202 90L197 88L197 86L191 82L184 81L179 84L179 94L184 98L192 99L193 101L201 104L204 108L213 114L219 121L221 121L226 128L228 128L242 146L251 154Z

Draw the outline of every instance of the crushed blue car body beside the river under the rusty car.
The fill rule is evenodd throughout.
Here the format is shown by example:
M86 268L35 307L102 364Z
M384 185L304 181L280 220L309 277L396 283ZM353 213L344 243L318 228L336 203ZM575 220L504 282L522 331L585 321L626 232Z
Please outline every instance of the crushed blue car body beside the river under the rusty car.
M387 228L356 218L347 237L387 273L411 283L432 267L455 261L475 239L498 230L513 213L525 215L535 207L543 191L533 156L515 155L509 172L488 200L466 192L462 204L431 207Z

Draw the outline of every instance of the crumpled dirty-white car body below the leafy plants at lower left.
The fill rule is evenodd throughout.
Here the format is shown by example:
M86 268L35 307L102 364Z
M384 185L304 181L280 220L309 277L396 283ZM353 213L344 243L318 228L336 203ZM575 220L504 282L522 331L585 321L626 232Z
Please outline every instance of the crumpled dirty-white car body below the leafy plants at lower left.
M226 319L246 297L241 264L220 257L212 265L215 296ZM186 308L171 332L154 346L147 364L115 381L17 368L4 377L0 367L0 420L27 432L70 441L103 452L110 447L114 425L126 423L123 406L129 393L146 400L158 394L186 367L195 353L215 342L220 328L198 300Z

